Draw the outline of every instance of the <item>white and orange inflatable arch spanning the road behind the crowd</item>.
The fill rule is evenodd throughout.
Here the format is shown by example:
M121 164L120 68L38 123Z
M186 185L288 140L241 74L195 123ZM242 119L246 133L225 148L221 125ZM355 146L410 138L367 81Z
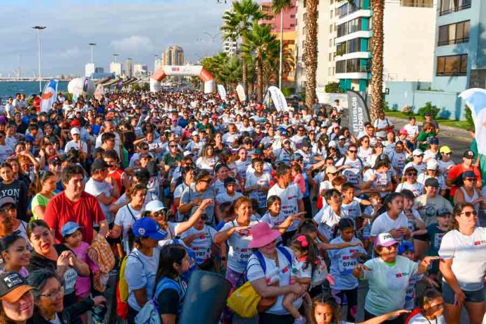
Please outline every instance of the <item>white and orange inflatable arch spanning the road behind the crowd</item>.
M200 65L182 65L172 66L165 65L157 69L150 76L150 91L160 91L161 81L167 76L198 76L204 82L204 93L209 94L216 91L216 83L214 77L205 68Z

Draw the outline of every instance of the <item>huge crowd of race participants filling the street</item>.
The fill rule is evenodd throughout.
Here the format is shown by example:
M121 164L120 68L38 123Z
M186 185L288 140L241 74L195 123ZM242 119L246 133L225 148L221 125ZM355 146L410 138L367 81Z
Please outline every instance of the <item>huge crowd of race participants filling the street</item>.
M440 145L429 114L353 134L343 112L199 91L0 103L0 323L175 324L197 269L261 297L223 324L482 323L477 152Z

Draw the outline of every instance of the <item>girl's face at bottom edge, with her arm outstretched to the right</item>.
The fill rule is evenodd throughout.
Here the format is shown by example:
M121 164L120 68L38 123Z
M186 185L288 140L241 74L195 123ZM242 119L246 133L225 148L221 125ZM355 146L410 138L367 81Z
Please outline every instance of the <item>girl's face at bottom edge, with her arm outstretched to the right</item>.
M406 314L408 311L405 309L399 309L398 311L392 311L381 316L371 318L368 321L361 322L360 324L379 324L388 321L390 318L396 318L402 314ZM317 324L351 324L341 321L341 309L339 304L328 295L321 295L314 298L312 303L311 323Z

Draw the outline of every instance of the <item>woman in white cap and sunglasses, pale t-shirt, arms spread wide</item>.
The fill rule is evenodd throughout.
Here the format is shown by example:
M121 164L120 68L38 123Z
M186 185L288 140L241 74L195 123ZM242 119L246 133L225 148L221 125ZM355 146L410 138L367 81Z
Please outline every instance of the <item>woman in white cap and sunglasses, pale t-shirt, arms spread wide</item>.
M358 264L353 276L368 281L369 290L364 301L364 319L403 309L408 281L414 274L422 274L432 260L439 257L427 256L420 263L398 256L399 242L390 233L381 233L374 242L377 256L364 264ZM402 316L384 323L402 324Z

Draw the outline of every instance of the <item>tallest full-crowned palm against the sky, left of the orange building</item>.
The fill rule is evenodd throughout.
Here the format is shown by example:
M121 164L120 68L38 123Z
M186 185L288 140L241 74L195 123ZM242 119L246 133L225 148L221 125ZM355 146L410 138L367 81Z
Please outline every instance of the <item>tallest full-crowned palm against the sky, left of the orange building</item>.
M224 25L221 30L224 32L224 38L237 40L241 38L242 43L245 43L246 34L251 32L253 22L258 22L267 17L260 5L253 0L233 1L230 11L226 11L223 15ZM243 61L242 66L242 83L246 87L247 67Z

